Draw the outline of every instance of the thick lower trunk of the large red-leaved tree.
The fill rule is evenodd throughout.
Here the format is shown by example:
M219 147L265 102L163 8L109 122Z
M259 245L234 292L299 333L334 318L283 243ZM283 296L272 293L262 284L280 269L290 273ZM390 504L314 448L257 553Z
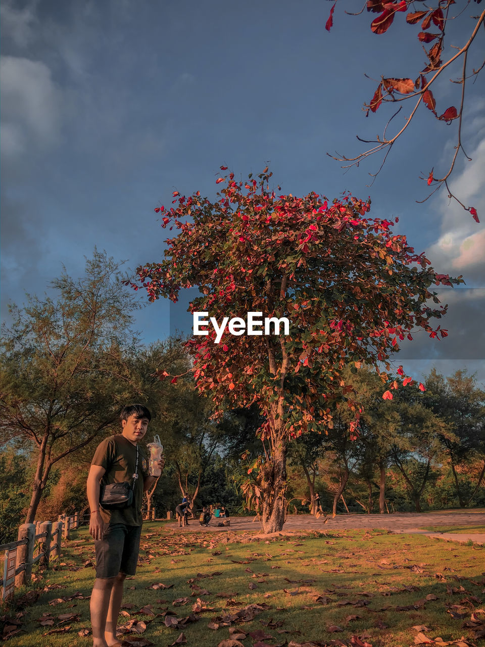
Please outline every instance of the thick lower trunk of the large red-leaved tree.
M263 532L280 532L286 518L286 447L273 453L264 466L263 479L260 487L263 494Z

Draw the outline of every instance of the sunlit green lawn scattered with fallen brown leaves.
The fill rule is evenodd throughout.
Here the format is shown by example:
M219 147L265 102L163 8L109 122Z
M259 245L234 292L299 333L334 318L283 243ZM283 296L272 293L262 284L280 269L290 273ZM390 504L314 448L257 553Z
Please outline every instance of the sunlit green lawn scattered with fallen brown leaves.
M79 632L89 630L92 562L87 531L74 533L59 569L39 582L38 601L17 619L19 609L8 610L21 632L6 644L89 647L91 635ZM222 646L407 647L461 637L453 644L478 647L484 571L484 549L420 535L340 531L250 541L230 530L181 535L147 523L120 624L131 626L127 647L184 644L184 637L193 647L230 638L239 642Z

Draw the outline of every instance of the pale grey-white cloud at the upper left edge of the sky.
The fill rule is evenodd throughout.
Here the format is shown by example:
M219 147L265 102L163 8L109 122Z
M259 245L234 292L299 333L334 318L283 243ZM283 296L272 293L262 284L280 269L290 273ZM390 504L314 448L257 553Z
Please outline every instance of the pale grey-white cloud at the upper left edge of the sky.
M14 56L0 58L1 146L19 155L32 144L50 146L58 139L61 91L47 65Z

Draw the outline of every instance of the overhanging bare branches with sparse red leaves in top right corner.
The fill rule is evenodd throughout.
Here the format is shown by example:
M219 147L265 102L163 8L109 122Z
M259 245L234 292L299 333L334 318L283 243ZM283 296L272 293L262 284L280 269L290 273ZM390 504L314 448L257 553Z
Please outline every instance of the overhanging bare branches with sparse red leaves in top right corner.
M479 5L481 0L474 0L474 2ZM327 31L330 31L330 28L332 28L336 5L337 1L334 2L330 10L330 16L325 25ZM464 13L468 8L472 8L473 6L474 5L471 0L467 0L466 3L455 3L455 0L435 0L434 2L426 3L426 5L422 0L394 0L393 2L385 2L384 0L367 0L365 2L360 14L365 10L365 8L367 8L367 11L372 14L378 14L371 22L371 30L374 34L384 34L387 32L393 24L394 19L398 19L399 16L402 16L403 19L405 16L406 23L411 27L414 26L415 29L421 29L417 34L417 40L420 47L424 49L426 64L423 69L415 71L412 78L382 77L371 101L369 104L364 104L365 116L369 116L369 112L375 113L378 108L386 102L391 102L393 104L400 104L404 101L414 102L411 105L411 112L405 118L404 123L396 129L393 135L387 134L387 128L389 127L391 120L393 120L400 112L401 106L398 107L396 113L394 113L394 115L391 116L391 119L387 122L381 137L378 137L374 141L363 140L358 137L358 140L365 144L373 144L371 148L360 153L356 157L346 157L345 155L334 156L330 155L330 153L328 154L339 162L350 162L346 166L343 166L343 168L349 168L350 166L357 166L361 160L364 160L371 155L384 153L379 170L377 173L371 173L371 175L375 177L382 169L393 144L403 135L409 124L411 124L420 105L424 105L429 111L431 111L431 113L433 113L435 118L445 122L448 126L456 123L457 138L451 162L449 163L447 170L442 174L440 173L441 177L437 177L435 169L433 168L427 177L422 178L426 180L427 186L431 186L432 190L431 193L429 193L429 195L427 195L427 197L421 202L426 201L431 195L433 195L433 193L439 190L442 186L445 186L448 192L448 197L457 201L457 203L460 204L464 210L468 211L473 216L473 219L479 223L476 208L474 206L466 206L463 204L458 197L451 192L448 184L448 179L455 169L459 153L461 152L467 160L471 160L471 158L466 154L462 144L465 85L469 78L473 78L473 80L475 80L477 74L479 74L485 65L485 62L482 62L482 58L480 58L480 67L477 69L472 67L470 70L469 54L471 46L474 43L476 45L480 31L482 35L484 34L485 25L485 10L482 10L482 12L477 16L468 16ZM416 10L417 8L420 9ZM451 48L446 49L445 36L447 35L447 28L449 31L451 25L453 25L458 17L462 17L462 19L467 17L469 19L471 18L471 27L468 31L468 37L466 42L460 43L460 45L452 43ZM478 54L479 56L482 56L482 52L480 52L480 50L478 51ZM455 83L458 94L458 107L450 105L446 109L437 109L437 102L433 96L431 87L433 84L437 83L438 79L442 78L442 72L446 70L447 73L449 73L449 70L453 69L449 66L457 61L461 61L460 74L458 79L450 79L450 82ZM454 90L455 88L453 88L453 91Z

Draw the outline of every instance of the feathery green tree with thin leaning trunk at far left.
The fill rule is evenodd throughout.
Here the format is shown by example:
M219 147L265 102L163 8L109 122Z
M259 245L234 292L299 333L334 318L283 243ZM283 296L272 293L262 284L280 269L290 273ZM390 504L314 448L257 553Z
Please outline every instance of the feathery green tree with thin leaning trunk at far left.
M51 286L56 296L10 307L14 323L2 336L0 439L23 444L36 462L27 522L52 468L111 428L136 391L128 358L137 305L118 264L95 250L85 276L64 271Z

